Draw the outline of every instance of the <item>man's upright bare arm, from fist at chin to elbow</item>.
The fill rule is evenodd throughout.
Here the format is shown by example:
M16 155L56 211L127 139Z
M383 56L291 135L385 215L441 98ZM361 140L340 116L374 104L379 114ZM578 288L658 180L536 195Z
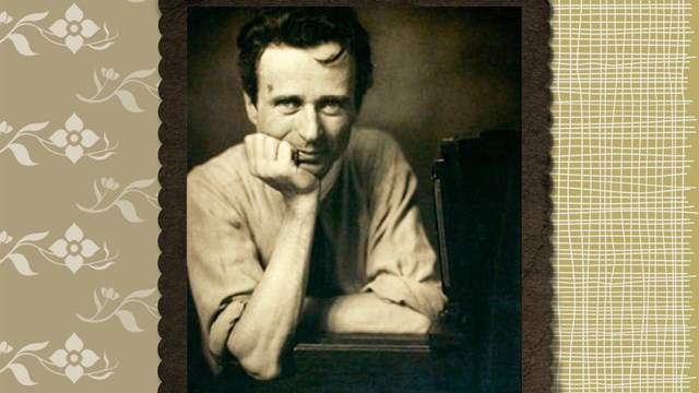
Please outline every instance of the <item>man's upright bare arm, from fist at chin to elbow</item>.
M282 192L287 210L264 274L228 337L228 349L258 379L282 372L282 357L298 323L308 279L319 182L296 167L285 142L246 138L250 171Z

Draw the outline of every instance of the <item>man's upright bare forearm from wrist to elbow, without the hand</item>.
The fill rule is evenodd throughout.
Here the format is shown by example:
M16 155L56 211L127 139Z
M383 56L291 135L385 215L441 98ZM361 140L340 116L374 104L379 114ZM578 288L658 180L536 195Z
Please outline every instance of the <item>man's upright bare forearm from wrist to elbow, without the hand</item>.
M232 354L259 379L279 376L298 322L318 209L312 196L288 207L264 275L228 338Z

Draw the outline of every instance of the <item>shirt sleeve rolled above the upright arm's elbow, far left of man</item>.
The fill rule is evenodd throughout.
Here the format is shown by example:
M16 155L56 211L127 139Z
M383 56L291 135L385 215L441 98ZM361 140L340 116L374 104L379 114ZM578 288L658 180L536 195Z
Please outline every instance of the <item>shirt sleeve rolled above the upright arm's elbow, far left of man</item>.
M245 217L222 186L194 169L187 181L187 269L206 360L221 371L226 343L263 271Z

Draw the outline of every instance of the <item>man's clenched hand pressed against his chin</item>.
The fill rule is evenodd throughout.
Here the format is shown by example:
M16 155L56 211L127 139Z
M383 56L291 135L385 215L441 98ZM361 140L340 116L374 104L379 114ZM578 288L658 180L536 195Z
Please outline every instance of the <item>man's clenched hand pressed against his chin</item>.
M245 148L250 174L280 191L287 202L319 189L320 180L294 164L288 142L254 133L245 138Z

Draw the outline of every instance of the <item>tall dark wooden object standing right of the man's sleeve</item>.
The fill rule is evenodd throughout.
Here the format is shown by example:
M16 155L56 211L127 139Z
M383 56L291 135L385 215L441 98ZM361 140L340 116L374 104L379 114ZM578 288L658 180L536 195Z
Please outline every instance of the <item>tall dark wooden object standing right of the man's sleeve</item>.
M446 315L475 365L471 392L521 380L519 131L446 140L434 170Z

